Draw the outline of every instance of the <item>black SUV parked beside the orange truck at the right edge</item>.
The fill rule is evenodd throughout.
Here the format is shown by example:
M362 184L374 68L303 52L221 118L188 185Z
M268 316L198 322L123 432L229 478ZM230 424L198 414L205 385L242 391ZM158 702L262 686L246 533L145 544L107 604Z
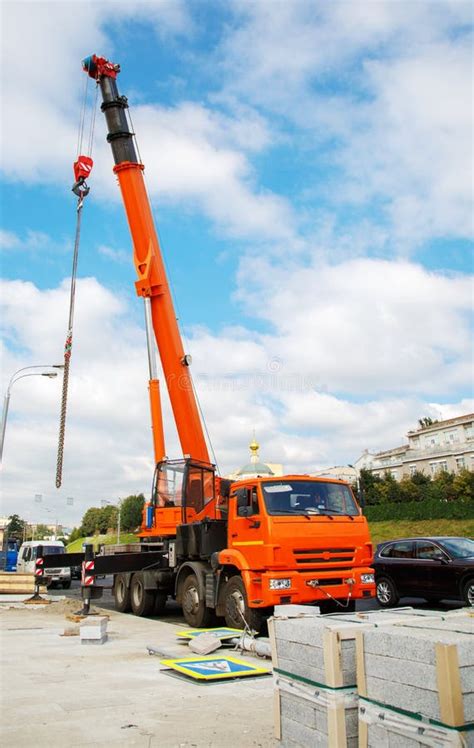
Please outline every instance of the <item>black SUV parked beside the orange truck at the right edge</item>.
M400 597L462 600L474 606L474 540L402 538L377 546L373 567L379 605Z

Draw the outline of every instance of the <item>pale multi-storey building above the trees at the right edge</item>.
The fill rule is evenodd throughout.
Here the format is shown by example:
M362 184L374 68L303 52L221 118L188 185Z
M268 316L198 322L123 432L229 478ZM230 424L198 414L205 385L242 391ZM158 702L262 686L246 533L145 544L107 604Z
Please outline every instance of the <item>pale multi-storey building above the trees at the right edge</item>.
M400 480L417 472L434 476L442 470L474 470L474 413L409 431L407 439L408 444L384 452L365 450L355 463L357 471L390 473Z

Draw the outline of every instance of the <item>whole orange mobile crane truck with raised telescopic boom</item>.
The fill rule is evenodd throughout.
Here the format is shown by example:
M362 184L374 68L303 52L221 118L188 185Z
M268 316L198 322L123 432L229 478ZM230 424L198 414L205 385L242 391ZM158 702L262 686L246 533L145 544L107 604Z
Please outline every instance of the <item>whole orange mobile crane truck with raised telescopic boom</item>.
M375 586L367 521L347 483L308 475L231 482L216 475L144 167L126 116L127 99L117 89L120 67L93 55L83 61L83 69L102 94L107 140L133 240L136 290L145 304L156 463L140 542L133 550L108 547L107 555L94 556L90 546L85 557L71 554L71 564L84 561L83 597L90 601L91 595L101 594L93 574L113 574L119 611L159 615L171 597L182 606L190 626L206 627L215 617L224 617L230 627L247 623L256 631L276 604L319 605L322 612L353 610L355 600L374 596ZM84 175L88 169L86 164ZM179 460L165 457L153 336L183 453Z

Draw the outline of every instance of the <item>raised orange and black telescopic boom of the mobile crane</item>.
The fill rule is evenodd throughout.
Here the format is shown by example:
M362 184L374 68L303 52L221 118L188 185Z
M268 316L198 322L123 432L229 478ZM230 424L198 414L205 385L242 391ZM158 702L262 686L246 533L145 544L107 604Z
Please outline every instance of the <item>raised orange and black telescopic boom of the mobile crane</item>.
M190 357L185 356L179 334L173 300L143 179L144 166L138 161L133 133L128 126L125 113L128 107L127 99L125 96L120 96L117 89L116 78L120 72L120 66L103 57L92 55L83 61L83 68L91 78L97 81L102 93L101 108L109 131L107 140L112 147L115 160L114 172L119 181L133 240L134 263L138 276L135 286L137 294L143 296L145 304L149 303L151 307L153 330L181 449L183 455L209 463L209 453L189 371ZM153 381L156 382L156 380ZM164 457L164 441L162 423L156 422L157 411L160 411L161 421L159 403L153 415L152 402L155 458L159 461ZM158 433L160 430L161 436ZM163 445L162 454L159 454L160 444Z

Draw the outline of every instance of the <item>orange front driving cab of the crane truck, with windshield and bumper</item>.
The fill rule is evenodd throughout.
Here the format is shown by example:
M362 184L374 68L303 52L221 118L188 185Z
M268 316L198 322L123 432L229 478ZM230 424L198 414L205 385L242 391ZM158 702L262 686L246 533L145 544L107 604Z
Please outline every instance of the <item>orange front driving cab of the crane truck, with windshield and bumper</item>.
M350 486L288 475L232 486L222 566L240 573L250 606L353 607L373 597L372 544Z

